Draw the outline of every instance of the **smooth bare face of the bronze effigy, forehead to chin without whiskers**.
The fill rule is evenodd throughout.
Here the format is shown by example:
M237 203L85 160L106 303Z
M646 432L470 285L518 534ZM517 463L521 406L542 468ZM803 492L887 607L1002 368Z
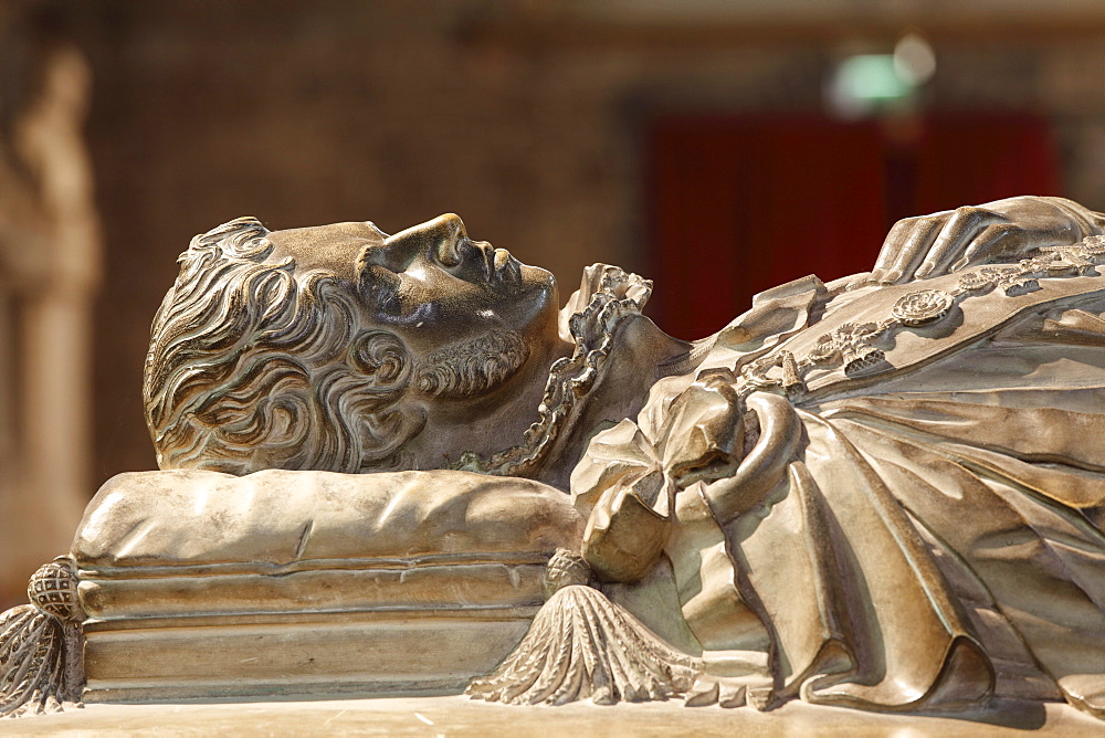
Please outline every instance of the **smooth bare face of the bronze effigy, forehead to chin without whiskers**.
M504 249L472 241L456 215L387 235L370 222L274 231L272 259L346 282L364 319L398 334L418 355L509 331L532 348L556 338L552 275ZM365 327L369 327L366 325Z

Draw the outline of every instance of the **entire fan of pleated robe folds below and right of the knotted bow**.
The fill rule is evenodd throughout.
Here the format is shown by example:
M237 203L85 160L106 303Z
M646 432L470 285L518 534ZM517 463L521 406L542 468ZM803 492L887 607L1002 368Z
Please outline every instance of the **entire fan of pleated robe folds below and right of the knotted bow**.
M1084 468L1088 457L1036 463L986 447L1001 428L1057 411L1007 409L1002 425L986 412L964 422L969 410L859 398L794 411L804 436L786 479L718 527L735 581L755 592L744 607L770 634L777 700L947 709L997 692L1101 709L1105 536L1080 508L1101 507L1105 475ZM708 571L694 576L715 587ZM695 610L684 615L705 649L728 645L696 628Z

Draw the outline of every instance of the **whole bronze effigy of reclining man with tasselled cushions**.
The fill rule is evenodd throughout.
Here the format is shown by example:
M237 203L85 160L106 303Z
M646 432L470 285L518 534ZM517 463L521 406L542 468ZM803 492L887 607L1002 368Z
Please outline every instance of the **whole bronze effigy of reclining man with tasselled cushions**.
M0 710L467 686L488 700L1105 710L1105 218L902 221L685 342L651 283L455 217L197 236L161 472L4 615ZM708 265L704 265L704 268Z

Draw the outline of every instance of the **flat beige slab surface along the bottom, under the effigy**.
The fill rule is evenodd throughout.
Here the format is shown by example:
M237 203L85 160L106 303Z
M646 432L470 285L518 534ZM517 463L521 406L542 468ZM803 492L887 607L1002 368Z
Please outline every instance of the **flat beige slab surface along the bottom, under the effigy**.
M1093 736L1105 724L1059 703L999 703L976 716L874 715L791 703L772 713L683 707L677 700L599 707L509 707L465 697L323 702L90 705L0 721L29 736Z

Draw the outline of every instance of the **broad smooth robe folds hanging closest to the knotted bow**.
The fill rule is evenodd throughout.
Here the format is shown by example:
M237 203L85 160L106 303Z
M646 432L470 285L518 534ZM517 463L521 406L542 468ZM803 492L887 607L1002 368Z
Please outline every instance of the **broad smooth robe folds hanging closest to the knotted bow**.
M797 412L800 457L725 530L769 623L776 698L878 710L985 703L993 668L908 515L844 434Z

